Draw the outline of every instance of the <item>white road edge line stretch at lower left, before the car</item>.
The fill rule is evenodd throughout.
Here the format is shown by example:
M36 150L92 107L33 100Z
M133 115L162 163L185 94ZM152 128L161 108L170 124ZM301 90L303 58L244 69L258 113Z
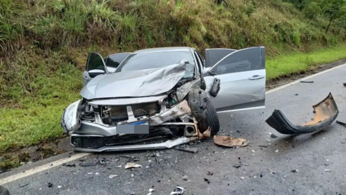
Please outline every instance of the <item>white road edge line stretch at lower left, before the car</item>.
M26 170L25 172L20 172L18 174L12 175L12 176L8 176L6 178L2 178L2 179L0 179L0 185L6 184L6 183L9 183L9 182L13 182L15 180L18 180L18 179L21 179L21 178L33 175L35 173L39 173L41 171L45 171L47 169L51 169L53 167L62 165L63 163L68 163L70 161L73 161L73 160L85 157L85 156L87 156L89 154L90 153L78 153L78 154L75 154L75 155L71 156L70 158L59 159L59 160L56 160L54 162L51 162L51 163L48 163L48 164L45 164L45 165L42 165L42 166L39 166L39 167L35 167L35 168L32 168L32 169Z

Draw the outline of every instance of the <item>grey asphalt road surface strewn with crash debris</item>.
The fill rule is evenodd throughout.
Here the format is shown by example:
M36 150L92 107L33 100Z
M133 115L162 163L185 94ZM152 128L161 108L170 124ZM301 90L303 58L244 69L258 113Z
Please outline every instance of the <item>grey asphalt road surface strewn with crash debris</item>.
M346 82L345 75L346 65L308 79L314 83L296 83L268 93L265 109L219 114L222 129L219 134L249 140L249 145L243 148L219 147L210 138L192 145L199 148L196 154L174 149L91 154L82 158L84 162L79 159L69 162L76 167L53 167L3 186L11 195L147 195L149 189L155 189L152 195L169 195L175 186L185 188L184 195L345 195L344 126L333 123L319 132L288 136L264 122L274 108L281 109L296 124L309 121L314 115L312 105L329 92L338 104L338 119L346 121L346 87L342 84ZM269 132L278 137L270 138ZM148 157L152 152L159 153L159 162ZM125 155L137 157L139 161L135 163L142 168L124 169L129 159L121 157ZM102 158L108 164L79 166ZM233 167L238 164L241 167ZM297 172L291 172L292 169ZM0 179L11 174L1 174ZM111 174L118 176L110 179ZM182 179L184 175L186 180ZM49 182L53 184L51 188ZM20 188L23 185L26 186Z

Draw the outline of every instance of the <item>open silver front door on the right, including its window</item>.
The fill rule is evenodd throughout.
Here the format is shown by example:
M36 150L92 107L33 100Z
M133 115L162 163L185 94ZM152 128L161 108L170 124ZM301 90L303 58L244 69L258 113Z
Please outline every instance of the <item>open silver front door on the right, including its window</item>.
M222 50L220 50L221 52ZM215 55L217 50L214 50ZM215 78L220 79L220 91L209 95ZM252 47L229 53L204 75L206 92L218 112L263 108L265 100L265 51Z

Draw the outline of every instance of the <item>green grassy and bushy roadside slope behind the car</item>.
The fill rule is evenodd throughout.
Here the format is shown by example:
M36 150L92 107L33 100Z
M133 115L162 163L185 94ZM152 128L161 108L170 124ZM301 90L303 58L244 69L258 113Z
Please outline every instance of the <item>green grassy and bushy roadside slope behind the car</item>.
M263 45L270 80L345 59L345 10L344 0L0 0L0 156L63 136L89 51Z

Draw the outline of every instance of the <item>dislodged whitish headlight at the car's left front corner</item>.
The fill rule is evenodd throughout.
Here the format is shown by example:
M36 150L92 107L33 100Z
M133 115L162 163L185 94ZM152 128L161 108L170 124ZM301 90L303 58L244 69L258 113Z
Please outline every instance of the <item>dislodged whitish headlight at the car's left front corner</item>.
M64 128L64 133L72 134L80 127L78 119L78 108L81 104L81 99L71 103L65 110L61 119L61 126Z

